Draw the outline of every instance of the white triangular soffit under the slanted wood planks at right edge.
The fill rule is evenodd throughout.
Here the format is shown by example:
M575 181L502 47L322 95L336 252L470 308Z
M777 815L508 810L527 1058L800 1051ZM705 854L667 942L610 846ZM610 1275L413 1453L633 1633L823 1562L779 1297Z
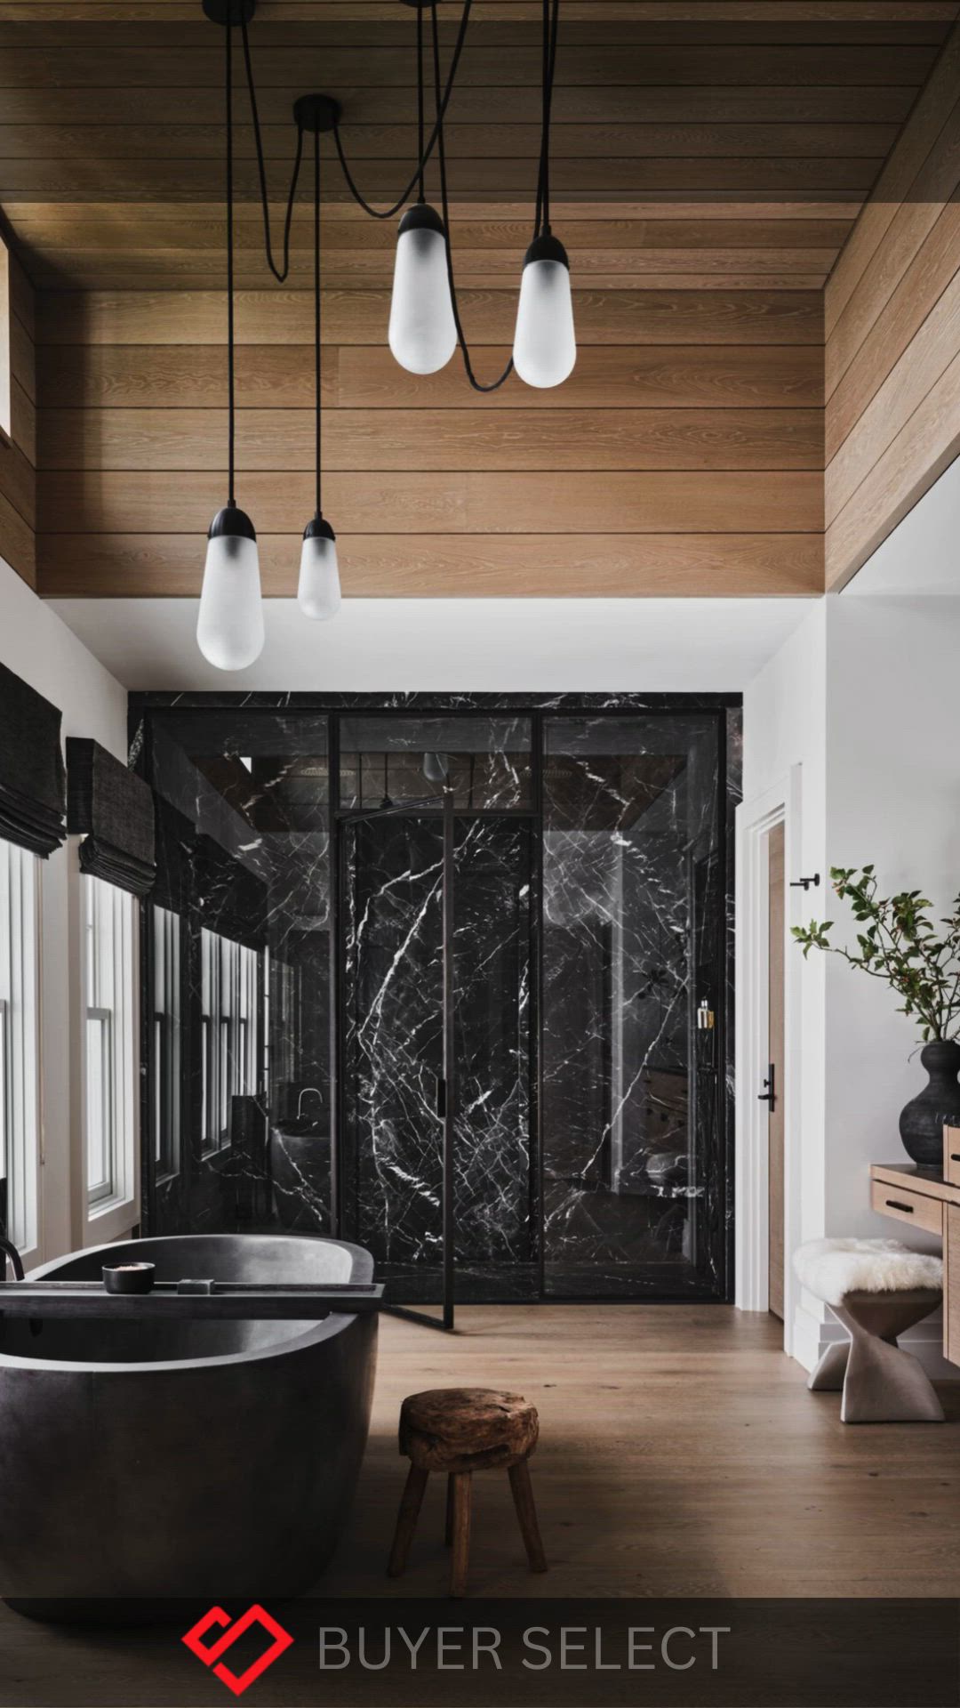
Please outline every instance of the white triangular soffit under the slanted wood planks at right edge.
M847 593L960 593L960 458L868 557Z

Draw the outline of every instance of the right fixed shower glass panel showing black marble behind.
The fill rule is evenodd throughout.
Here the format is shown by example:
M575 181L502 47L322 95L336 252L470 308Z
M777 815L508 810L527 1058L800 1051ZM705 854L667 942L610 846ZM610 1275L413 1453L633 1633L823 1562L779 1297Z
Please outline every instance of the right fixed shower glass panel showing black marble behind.
M545 753L547 1291L714 1291L717 719L548 719Z

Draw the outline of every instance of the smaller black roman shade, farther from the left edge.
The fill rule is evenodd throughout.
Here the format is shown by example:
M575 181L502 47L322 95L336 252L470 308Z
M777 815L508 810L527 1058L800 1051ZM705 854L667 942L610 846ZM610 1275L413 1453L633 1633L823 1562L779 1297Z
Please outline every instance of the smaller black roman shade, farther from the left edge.
M154 791L99 741L67 740L67 828L80 871L147 895L157 873Z

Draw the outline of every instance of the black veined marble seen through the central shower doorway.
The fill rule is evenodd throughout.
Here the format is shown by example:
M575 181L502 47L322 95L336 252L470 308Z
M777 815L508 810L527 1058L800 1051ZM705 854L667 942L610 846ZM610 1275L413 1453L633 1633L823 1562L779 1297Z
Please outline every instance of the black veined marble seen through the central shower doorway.
M407 1300L442 1255L442 834L345 830L343 1177L350 1237ZM461 1281L531 1266L530 825L461 820L454 842L454 1223Z

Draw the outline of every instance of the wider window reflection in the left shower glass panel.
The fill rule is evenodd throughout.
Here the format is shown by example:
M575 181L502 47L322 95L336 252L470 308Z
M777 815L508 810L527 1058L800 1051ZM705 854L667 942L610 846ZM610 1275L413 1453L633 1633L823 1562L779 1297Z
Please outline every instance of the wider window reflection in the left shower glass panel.
M215 931L200 933L203 1156L229 1143L231 1100L256 1091L258 977L255 950Z

